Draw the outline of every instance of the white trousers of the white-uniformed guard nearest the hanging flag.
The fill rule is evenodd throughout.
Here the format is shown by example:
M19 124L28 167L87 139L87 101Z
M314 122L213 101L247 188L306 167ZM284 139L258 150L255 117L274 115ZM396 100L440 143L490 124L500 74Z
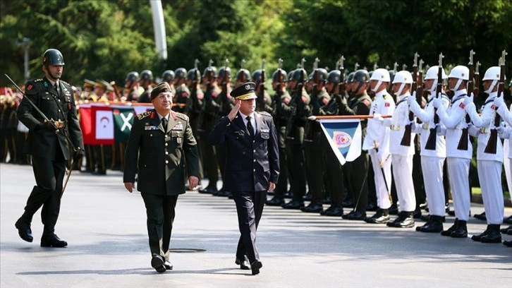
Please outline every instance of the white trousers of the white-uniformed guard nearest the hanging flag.
M391 159L384 162L382 169L380 168L379 159L377 157L377 151L375 149L368 150L370 153L370 159L372 160L373 172L375 174L375 193L377 194L377 205L381 209L388 209L391 207ZM384 175L386 175L386 181L384 181ZM387 183L387 186L386 186Z

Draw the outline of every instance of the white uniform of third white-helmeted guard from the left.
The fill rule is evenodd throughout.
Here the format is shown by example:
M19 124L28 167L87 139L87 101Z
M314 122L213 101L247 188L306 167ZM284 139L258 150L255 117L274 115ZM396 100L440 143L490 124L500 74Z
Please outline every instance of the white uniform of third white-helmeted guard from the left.
M434 94L430 95L425 109L421 109L417 102L410 106L412 111L423 124L415 125L415 132L420 133L420 155L421 168L423 174L423 184L425 193L427 193L427 202L430 215L444 216L446 200L444 198L443 186L443 166L446 159L446 140L444 136L436 136L436 149L425 149L425 145L430 135L430 128L434 128ZM450 106L450 100L446 94L441 95L441 102L444 108ZM437 133L437 132L434 132Z

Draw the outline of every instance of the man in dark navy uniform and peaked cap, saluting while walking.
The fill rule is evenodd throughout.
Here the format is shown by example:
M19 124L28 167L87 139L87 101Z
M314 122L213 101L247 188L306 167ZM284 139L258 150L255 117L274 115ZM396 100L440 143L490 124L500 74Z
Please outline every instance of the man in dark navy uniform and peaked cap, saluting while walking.
M236 104L220 119L209 135L209 143L226 147L224 188L233 193L238 213L240 240L237 265L252 275L260 273L262 263L256 248L256 230L262 217L267 191L273 191L279 177L279 150L272 116L255 112L255 83L248 82L231 91Z

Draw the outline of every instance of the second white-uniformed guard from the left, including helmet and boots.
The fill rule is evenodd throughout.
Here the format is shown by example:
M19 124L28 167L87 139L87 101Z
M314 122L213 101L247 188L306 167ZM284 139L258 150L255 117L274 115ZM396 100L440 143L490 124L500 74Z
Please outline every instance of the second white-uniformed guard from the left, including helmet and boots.
M388 227L408 228L414 226L413 212L416 208L416 198L413 184L413 155L415 153L413 140L415 133L410 133L409 145L401 145L406 126L413 124L409 120L410 88L413 76L408 71L399 71L393 80L393 92L398 102L391 119L379 119L384 126L389 126L389 152L393 162L393 176L396 184L396 194L400 202L398 217L388 222Z

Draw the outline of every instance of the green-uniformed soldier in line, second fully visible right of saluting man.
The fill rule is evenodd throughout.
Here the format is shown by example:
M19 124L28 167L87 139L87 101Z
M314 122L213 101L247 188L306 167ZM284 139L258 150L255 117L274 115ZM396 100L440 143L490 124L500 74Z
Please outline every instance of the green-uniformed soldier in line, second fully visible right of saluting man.
M300 209L304 207L306 193L305 156L303 150L304 126L306 117L310 114L310 95L305 91L307 73L304 68L293 72L291 88L294 90L291 99L292 111L286 124L286 149L291 160L291 177L293 178L293 198L281 207L285 209Z

